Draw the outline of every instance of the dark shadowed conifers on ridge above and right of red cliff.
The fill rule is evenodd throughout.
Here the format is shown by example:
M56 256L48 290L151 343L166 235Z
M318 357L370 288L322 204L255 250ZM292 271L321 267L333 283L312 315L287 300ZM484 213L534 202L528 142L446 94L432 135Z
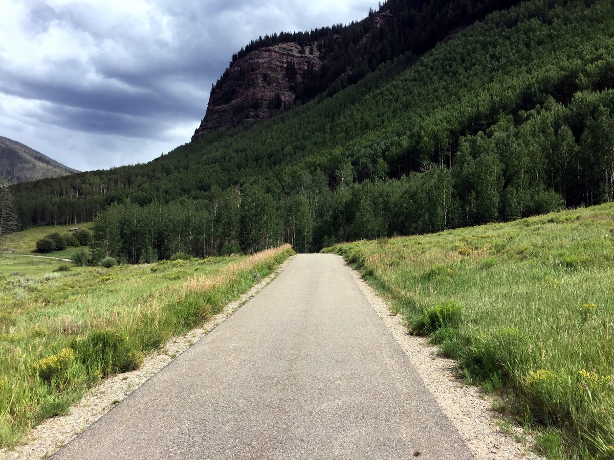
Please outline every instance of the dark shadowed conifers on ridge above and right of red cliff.
M319 94L335 94L361 80L379 64L404 53L422 55L488 13L518 3L519 0L388 0L383 4L380 2L377 13L371 9L362 21L347 26L337 24L308 32L281 32L258 37L233 55L230 65L254 50L279 43L296 42L303 53L306 46L312 50L316 47L324 61L322 67L317 71L311 69L305 79L295 82L295 103L304 103ZM374 27L376 15L379 15L380 22ZM212 90L220 88L227 77L228 69ZM228 96L230 99L226 102L230 102L232 94Z

